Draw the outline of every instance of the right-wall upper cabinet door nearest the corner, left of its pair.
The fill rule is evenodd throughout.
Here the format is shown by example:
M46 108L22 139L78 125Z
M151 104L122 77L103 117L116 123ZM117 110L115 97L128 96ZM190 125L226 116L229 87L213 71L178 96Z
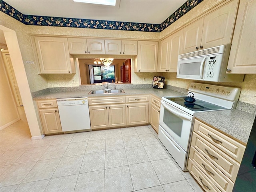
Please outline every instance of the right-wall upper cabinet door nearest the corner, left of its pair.
M170 37L162 40L159 44L157 72L167 72L170 60Z

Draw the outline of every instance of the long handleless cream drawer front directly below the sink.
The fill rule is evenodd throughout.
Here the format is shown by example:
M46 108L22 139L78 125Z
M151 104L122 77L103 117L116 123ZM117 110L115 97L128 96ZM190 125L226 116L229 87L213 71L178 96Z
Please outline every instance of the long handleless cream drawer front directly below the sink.
M91 97L88 98L89 105L125 103L124 97Z

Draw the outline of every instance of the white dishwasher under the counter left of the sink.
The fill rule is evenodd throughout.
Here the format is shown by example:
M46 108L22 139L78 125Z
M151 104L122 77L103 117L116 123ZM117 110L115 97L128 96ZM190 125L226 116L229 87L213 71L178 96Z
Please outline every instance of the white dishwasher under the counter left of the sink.
M57 104L64 133L91 130L87 97L57 99Z

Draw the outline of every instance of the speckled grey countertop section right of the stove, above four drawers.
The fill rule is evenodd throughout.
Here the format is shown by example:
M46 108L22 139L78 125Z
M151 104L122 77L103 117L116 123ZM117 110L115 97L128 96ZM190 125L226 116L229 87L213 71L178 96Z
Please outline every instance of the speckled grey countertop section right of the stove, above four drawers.
M255 115L241 110L198 112L194 116L224 134L247 143Z

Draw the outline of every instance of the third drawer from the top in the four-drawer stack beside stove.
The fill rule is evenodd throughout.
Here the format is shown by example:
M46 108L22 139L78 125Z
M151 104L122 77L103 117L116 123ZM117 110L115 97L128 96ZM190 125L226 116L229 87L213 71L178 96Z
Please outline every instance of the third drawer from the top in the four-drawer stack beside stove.
M216 186L218 186L218 188L220 188L221 191L232 191L234 182L227 178L227 176L210 163L193 146L190 148L189 158Z

